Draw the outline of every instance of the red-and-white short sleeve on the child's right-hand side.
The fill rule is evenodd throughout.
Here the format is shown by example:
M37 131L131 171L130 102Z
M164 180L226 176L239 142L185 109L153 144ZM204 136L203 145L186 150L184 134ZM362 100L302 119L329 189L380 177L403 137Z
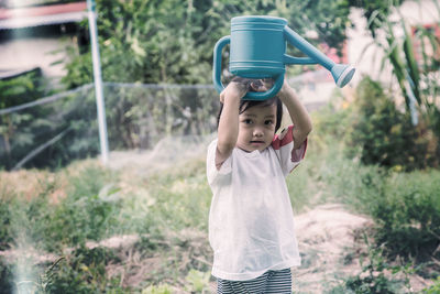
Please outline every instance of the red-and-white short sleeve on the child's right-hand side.
M294 149L294 126L284 129L279 135L275 135L272 148L274 149L283 174L287 176L304 159L307 150L307 138L299 149Z

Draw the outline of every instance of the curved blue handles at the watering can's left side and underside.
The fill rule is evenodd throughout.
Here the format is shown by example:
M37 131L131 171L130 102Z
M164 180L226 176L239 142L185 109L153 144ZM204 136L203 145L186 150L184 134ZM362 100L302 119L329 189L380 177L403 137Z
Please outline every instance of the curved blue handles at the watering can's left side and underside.
M213 48L213 70L212 70L212 80L215 87L218 92L221 92L224 89L223 84L221 83L221 52L223 47L231 42L231 36L227 35L220 39ZM267 91L249 91L243 99L245 100L265 100L271 97L274 97L279 89L282 88L284 83L284 75L278 75L275 79L274 86Z

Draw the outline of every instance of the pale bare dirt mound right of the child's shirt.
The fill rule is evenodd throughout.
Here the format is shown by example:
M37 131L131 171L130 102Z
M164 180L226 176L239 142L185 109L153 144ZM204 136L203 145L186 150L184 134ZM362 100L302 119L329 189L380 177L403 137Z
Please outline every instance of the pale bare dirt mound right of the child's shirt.
M363 236L373 225L371 219L329 204L298 215L295 221L302 257L301 266L293 269L295 293L322 293L340 284L342 277L362 272L359 258L367 251ZM418 275L410 276L414 292L430 284Z

